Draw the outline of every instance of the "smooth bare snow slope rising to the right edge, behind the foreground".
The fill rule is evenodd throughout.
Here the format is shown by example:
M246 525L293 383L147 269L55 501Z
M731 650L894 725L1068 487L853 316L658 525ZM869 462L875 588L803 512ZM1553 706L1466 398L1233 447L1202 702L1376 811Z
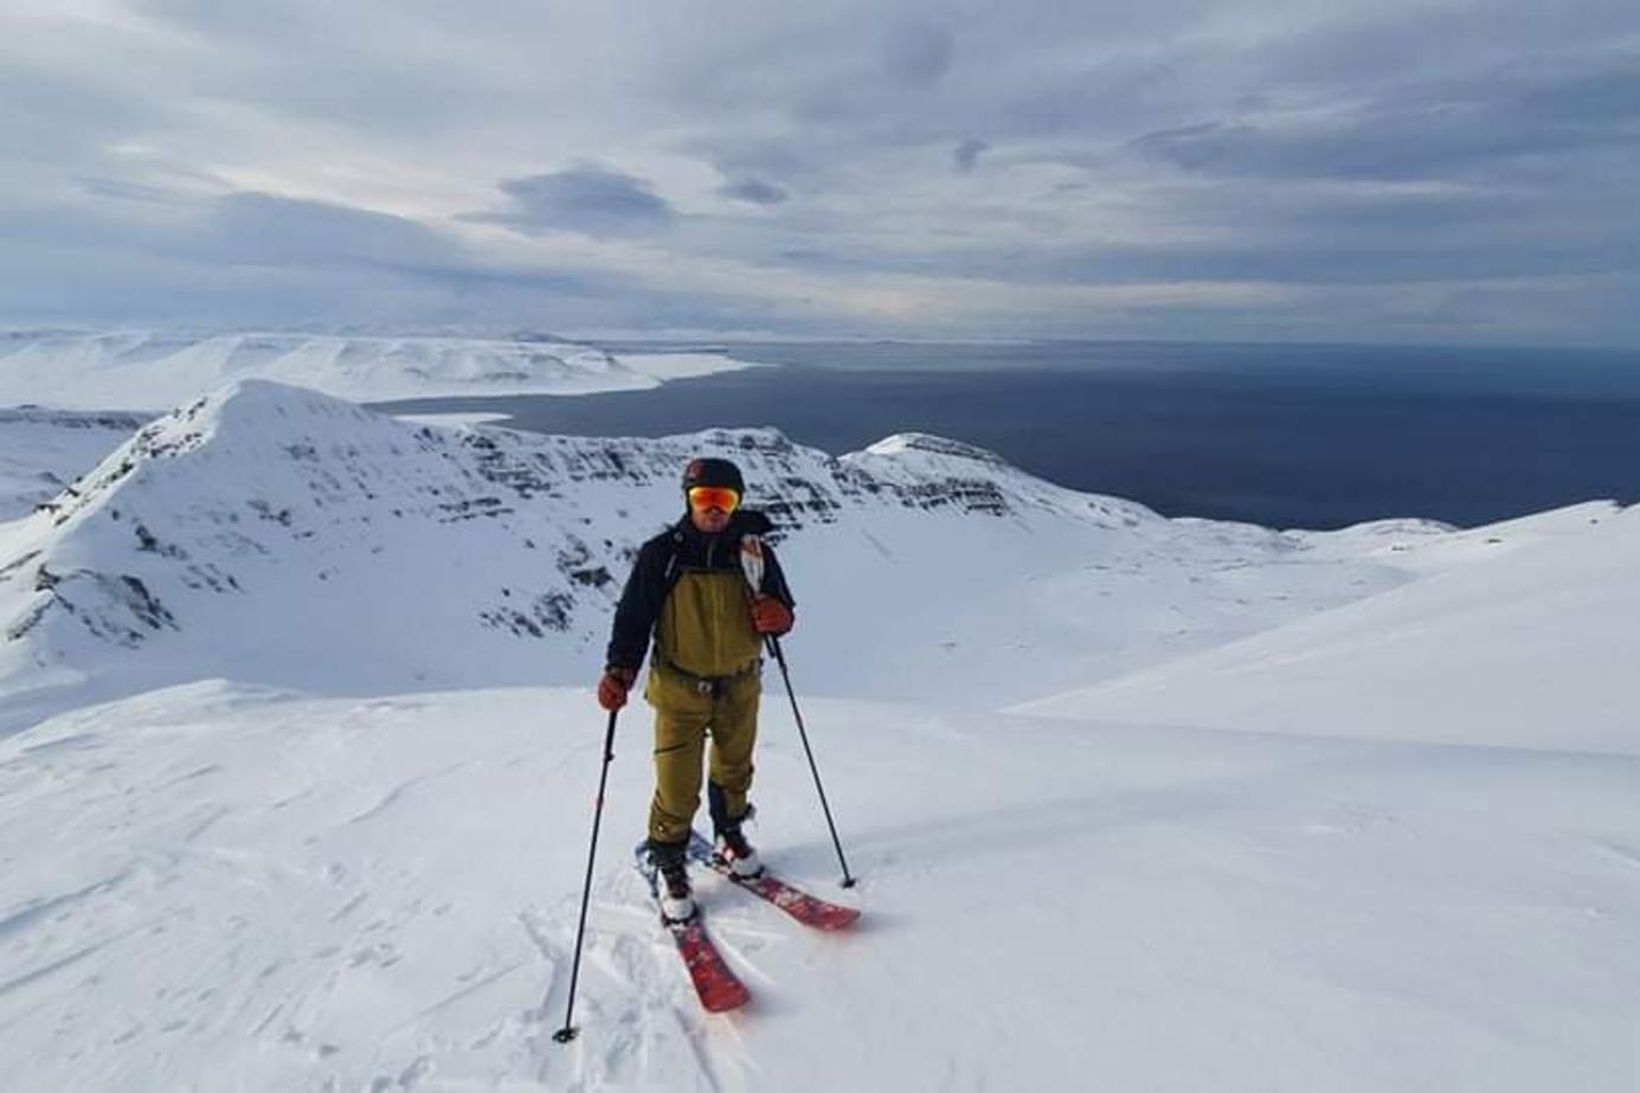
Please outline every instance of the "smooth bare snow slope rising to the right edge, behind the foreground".
M1471 532L1494 556L1018 709L1640 755L1640 507L1553 519L1579 533L1509 550L1506 528Z

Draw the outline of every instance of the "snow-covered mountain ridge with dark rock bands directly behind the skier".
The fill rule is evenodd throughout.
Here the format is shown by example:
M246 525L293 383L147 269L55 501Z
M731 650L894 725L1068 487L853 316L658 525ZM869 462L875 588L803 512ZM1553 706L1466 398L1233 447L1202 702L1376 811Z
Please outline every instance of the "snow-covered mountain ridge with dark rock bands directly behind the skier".
M745 468L786 540L794 652L856 694L950 696L968 666L987 699L1038 696L1401 583L1383 537L1440 533L1166 520L922 435L843 458L772 430L538 437L236 381L0 525L0 688L584 679L697 453Z

